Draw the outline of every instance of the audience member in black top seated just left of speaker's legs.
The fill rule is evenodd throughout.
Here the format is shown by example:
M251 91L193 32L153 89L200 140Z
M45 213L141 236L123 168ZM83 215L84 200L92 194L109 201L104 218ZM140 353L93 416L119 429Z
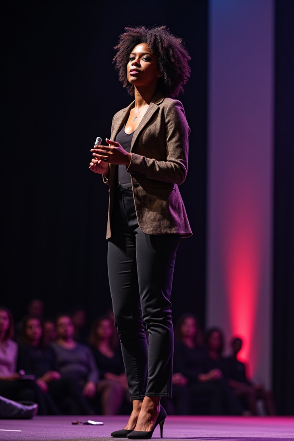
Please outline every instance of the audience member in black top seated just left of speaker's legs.
M103 415L116 415L128 396L123 357L120 347L115 345L115 333L112 321L103 316L94 322L89 336L100 373L97 391L101 394Z

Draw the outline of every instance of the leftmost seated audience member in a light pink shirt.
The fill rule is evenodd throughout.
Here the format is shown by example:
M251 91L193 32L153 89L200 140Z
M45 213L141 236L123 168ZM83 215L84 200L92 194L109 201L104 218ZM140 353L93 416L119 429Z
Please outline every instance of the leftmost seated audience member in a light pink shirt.
M16 372L18 345L12 340L13 317L4 306L0 306L0 395L14 401L32 401L39 404L39 415L45 415L41 391L33 379Z

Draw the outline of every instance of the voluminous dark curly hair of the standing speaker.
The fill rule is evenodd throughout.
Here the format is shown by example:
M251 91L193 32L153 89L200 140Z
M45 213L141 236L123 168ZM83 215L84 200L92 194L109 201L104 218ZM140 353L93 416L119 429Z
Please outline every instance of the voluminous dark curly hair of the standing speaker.
M117 50L113 63L119 72L119 81L130 95L134 95L134 86L127 81L127 64L130 53L140 43L147 43L152 54L158 56L158 66L161 77L157 89L171 98L183 92L183 86L190 77L191 69L188 64L189 56L181 38L172 35L166 26L152 28L125 27L119 36L119 42L114 47Z

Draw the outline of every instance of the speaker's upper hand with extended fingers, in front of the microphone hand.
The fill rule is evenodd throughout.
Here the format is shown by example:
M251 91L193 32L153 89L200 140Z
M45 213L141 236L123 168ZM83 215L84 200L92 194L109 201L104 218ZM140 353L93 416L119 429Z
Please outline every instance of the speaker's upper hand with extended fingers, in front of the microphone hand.
M128 167L131 154L123 149L119 142L111 141L108 138L106 138L106 142L110 145L97 146L94 149L91 149L93 157L108 162L109 164L126 165Z

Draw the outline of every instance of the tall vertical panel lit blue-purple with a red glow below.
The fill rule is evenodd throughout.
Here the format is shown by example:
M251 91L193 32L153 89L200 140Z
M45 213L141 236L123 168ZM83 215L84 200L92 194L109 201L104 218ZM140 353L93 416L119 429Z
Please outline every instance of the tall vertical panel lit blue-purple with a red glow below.
M210 0L207 324L269 384L273 0Z

